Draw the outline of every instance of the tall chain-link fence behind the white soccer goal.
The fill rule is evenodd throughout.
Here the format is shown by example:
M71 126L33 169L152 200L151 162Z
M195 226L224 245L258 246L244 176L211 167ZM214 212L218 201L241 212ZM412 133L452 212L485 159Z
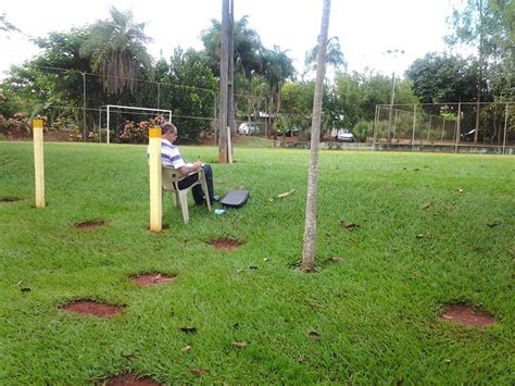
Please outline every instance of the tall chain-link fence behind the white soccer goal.
M146 144L150 126L172 119L180 130L179 140L216 142L217 85L202 88L63 69L36 70L40 76L28 77L17 87L29 96L12 116L0 119L1 133L8 137L28 136L32 120L40 116L49 139ZM124 82L124 92L110 91L115 82ZM234 135L268 135L267 105L264 95L236 94Z

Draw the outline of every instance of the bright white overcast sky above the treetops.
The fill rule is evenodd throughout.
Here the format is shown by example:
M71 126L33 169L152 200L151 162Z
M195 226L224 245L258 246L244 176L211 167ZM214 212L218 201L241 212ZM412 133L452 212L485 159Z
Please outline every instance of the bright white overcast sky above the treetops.
M234 0L235 18L249 15L266 48L290 50L296 67L303 69L305 52L316 43L321 29L323 0ZM375 69L385 74L404 72L417 58L443 51L449 33L445 17L463 0L332 0L329 37L338 36L349 70ZM29 36L51 30L70 30L99 18L108 18L109 7L131 10L136 22L146 22L153 38L149 52L168 59L173 49L201 49L200 33L211 18L221 20L222 0L4 0L0 14ZM0 35L0 78L11 64L30 59L37 49L16 34ZM404 50L401 55L387 50Z

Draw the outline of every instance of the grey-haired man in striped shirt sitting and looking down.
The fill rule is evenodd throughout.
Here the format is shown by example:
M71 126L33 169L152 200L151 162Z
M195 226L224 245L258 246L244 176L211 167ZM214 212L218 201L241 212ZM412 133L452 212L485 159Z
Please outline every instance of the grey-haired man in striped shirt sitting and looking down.
M188 175L203 169L208 191L210 194L210 202L219 201L219 196L213 194L213 171L211 170L211 165L200 161L186 163L183 157L180 157L179 149L174 145L175 139L177 139L177 127L171 122L163 123L161 125L161 164L163 166L177 169L183 175ZM186 189L198 179L199 174L192 174L178 183L179 188ZM205 201L202 187L200 185L193 186L192 191L194 202L198 206L203 204Z

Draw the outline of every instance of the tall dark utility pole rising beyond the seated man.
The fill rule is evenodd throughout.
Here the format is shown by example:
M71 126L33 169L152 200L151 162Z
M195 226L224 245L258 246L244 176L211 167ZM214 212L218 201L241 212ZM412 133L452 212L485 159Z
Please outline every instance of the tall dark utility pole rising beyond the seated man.
M235 125L234 117L234 51L233 38L234 4L233 0L222 0L222 36L221 36L221 63L219 63L219 124L218 124L218 162L229 161L228 130Z

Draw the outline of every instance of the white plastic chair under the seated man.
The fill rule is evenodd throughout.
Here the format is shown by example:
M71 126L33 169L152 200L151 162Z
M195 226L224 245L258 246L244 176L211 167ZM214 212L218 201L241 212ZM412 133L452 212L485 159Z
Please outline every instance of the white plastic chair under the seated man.
M199 178L197 179L197 182L194 182L191 186L188 186L185 189L180 189L179 182L194 174L199 174ZM208 209L211 212L210 194L208 191L208 183L205 182L205 175L202 169L198 172L184 175L180 174L178 169L162 166L161 175L163 180L163 190L169 191L172 194L172 197L174 198L174 207L177 207L177 201L180 202L180 209L183 210L183 220L185 224L188 224L189 222L188 192L196 185L200 185L202 187L202 191L204 192L205 197L205 202L208 203Z

